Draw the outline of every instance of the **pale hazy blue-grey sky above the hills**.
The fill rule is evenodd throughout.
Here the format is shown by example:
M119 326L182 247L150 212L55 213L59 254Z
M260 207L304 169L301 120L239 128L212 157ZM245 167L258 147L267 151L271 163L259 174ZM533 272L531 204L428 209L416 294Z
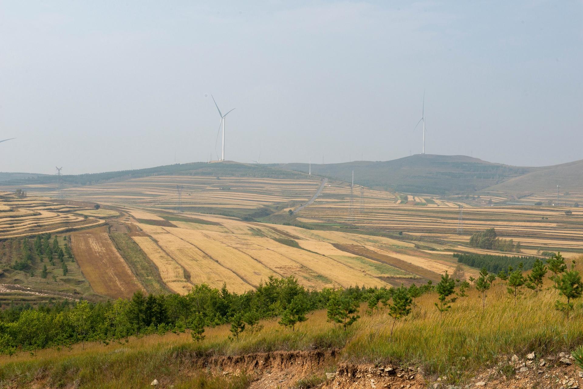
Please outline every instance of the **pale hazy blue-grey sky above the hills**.
M0 171L583 159L583 2L0 0ZM220 153L220 140L217 145Z

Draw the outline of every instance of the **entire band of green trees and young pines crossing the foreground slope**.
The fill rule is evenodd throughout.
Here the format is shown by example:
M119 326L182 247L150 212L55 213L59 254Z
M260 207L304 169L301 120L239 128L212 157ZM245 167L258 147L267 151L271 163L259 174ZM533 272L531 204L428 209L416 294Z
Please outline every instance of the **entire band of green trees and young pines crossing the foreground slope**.
M89 303L63 301L10 306L0 311L0 352L12 354L17 350L33 350L51 346L71 345L76 342L103 341L128 338L131 335L163 334L168 331L191 330L193 341L204 339L205 327L230 323L230 339L237 339L244 331L261 331L259 320L279 317L278 323L294 331L297 323L307 320L306 314L327 309L328 321L345 330L359 320L359 307L367 303L367 313L387 311L391 320L391 339L397 321L408 316L423 293L436 292L434 306L440 315L446 314L460 298L467 297L472 286L486 306L487 292L497 279L505 282L508 295L517 300L524 288L535 296L542 290L547 273L553 288L563 299L557 299L555 309L566 317L574 309L574 301L583 293L580 272L575 263L569 268L560 253L545 262L536 259L529 274L524 274L522 263L498 274L482 268L478 278L469 281L455 279L445 272L436 285L429 281L418 287L307 290L297 279L270 277L256 290L231 293L224 284L221 289L196 285L187 295L148 295L141 291L132 299L114 302Z

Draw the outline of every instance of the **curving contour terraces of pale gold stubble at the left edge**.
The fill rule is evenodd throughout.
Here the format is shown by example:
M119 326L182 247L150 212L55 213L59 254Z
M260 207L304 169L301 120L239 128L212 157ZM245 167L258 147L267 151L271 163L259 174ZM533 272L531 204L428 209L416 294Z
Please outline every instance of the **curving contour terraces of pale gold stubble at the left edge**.
M104 223L77 213L85 211L86 208L58 204L46 197L17 198L13 193L0 192L0 239L64 232Z

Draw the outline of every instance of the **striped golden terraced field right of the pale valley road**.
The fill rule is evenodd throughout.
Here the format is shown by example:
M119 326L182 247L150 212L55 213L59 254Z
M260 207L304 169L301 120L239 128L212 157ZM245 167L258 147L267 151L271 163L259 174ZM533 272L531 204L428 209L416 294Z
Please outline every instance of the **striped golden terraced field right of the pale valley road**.
M554 206L483 206L463 208L462 233L458 234L458 206L415 206L391 201L368 202L354 206L349 202L314 205L299 213L303 219L336 222L367 229L401 231L429 235L465 243L475 232L494 227L500 236L512 238L530 247L583 250L583 208ZM565 211L571 211L567 215Z

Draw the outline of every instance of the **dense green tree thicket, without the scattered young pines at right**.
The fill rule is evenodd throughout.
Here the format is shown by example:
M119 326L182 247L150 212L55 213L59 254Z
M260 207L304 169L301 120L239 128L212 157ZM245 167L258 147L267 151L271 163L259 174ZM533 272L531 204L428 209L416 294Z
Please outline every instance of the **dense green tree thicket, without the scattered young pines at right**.
M334 323L354 323L354 309L371 296L385 302L389 288L353 286L346 289L308 290L297 279L270 277L256 290L229 292L227 285L211 288L195 285L187 295L144 295L131 299L90 303L63 301L38 307L11 305L0 311L0 352L66 346L76 342L104 341L140 334L163 334L192 330L192 337L204 337L205 327L231 324L234 338L257 330L259 320L280 317L279 324L295 330L310 311L332 309Z

